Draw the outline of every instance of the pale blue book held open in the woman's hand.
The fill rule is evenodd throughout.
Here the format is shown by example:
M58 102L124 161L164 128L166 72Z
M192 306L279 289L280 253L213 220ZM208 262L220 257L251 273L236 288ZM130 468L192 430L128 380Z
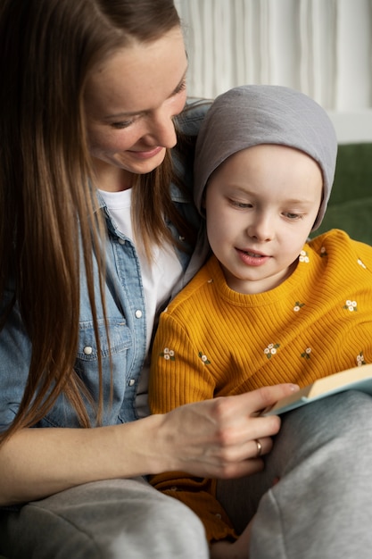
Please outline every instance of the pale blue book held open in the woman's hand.
M264 410L261 415L280 415L345 390L361 390L372 396L372 363L315 380L291 396L285 396L277 404Z

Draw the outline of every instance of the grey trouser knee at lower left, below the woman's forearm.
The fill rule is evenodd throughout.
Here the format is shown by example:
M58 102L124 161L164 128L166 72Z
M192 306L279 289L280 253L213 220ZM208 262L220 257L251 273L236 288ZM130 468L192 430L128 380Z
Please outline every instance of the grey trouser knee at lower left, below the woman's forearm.
M207 559L203 524L145 480L107 480L0 513L10 559Z

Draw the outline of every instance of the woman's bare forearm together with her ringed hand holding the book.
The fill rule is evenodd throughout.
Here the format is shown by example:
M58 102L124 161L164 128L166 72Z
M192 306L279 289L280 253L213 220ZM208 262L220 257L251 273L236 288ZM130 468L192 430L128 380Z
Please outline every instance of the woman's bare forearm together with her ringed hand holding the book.
M178 407L162 415L94 429L21 430L0 446L0 505L42 498L94 480L161 471L233 478L260 469L260 442L280 427L257 412L290 394L293 385Z

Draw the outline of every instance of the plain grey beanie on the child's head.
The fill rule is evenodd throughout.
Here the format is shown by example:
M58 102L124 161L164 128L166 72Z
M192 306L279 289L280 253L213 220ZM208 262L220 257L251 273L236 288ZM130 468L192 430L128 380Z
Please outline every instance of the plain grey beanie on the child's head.
M211 173L230 155L260 144L294 147L318 162L323 199L312 230L318 229L335 177L335 129L318 103L282 86L240 86L211 104L195 148L194 201L199 212Z

